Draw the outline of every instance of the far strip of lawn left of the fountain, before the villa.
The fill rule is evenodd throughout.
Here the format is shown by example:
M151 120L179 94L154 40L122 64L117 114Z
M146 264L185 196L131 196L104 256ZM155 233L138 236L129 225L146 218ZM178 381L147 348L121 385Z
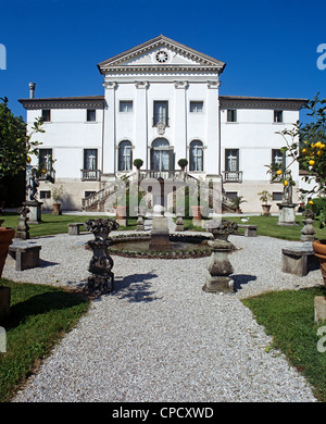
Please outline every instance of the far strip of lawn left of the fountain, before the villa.
M41 215L40 224L30 224L29 225L29 235L30 237L39 236L50 236L53 234L65 234L68 230L67 225L71 223L84 223L88 220L93 220L97 217L109 217L109 216L86 216L86 215L52 215L50 213L43 213ZM2 226L16 228L18 225L18 214L17 213L5 213L0 216L1 220L4 220ZM128 220L128 226L121 226L118 229L135 229L137 219Z

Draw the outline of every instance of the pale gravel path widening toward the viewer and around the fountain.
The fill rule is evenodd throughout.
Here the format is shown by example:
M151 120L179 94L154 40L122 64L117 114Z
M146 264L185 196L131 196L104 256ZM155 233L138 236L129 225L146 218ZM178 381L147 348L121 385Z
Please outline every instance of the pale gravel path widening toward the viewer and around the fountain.
M91 234L34 239L41 266L3 277L76 286L85 283ZM322 284L281 273L289 241L230 236L235 287L230 295L202 291L208 258L126 259L114 255L115 291L91 308L45 360L14 401L315 401L240 299L266 290Z

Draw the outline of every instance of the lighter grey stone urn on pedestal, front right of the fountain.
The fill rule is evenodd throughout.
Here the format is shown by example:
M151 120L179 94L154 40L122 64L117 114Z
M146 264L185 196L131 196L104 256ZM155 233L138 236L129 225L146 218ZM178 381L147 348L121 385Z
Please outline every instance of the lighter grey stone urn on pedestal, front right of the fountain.
M233 249L233 244L228 241L228 236L237 232L238 224L233 221L215 221L209 223L206 229L212 233L214 240L209 241L212 254L208 270L210 275L202 289L208 292L230 292L233 283L230 274L234 273L233 265L228 259L228 253Z

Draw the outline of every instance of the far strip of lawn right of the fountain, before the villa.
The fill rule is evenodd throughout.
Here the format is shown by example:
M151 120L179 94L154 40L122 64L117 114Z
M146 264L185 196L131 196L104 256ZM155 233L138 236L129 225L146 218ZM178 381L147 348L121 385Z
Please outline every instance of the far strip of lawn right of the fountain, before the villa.
M225 216L224 220L236 221L238 224L242 224L241 217L248 217L246 214L239 216ZM301 229L303 227L302 220L304 216L297 215L296 222L298 226L280 226L277 225L278 216L249 216L247 224L258 226L259 236L268 236L275 238L283 238L286 240L300 240ZM200 228L192 226L192 220L184 220L185 229L199 230ZM318 221L314 223L314 228L316 230L315 237L318 239L326 238L326 227L321 229ZM201 228L201 230L203 230ZM239 233L243 233L243 229L239 228Z

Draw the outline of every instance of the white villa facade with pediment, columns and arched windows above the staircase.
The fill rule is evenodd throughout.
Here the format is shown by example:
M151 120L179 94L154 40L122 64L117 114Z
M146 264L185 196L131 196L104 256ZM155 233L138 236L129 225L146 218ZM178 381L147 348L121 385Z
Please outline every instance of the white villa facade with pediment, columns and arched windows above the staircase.
M271 183L265 165L284 146L275 133L290 129L304 100L220 96L225 63L164 36L98 67L103 96L21 100L28 125L42 114L47 119L46 133L36 138L42 142L40 160L46 153L55 160L55 186L62 184L66 194L63 209L80 209L87 195L130 175L136 158L143 172L164 178L186 158L195 178L223 180L227 194L243 196L243 212L261 212L263 189L274 192L277 210L283 187ZM299 180L297 165L292 176ZM51 205L45 195L50 189L41 182L45 207Z

